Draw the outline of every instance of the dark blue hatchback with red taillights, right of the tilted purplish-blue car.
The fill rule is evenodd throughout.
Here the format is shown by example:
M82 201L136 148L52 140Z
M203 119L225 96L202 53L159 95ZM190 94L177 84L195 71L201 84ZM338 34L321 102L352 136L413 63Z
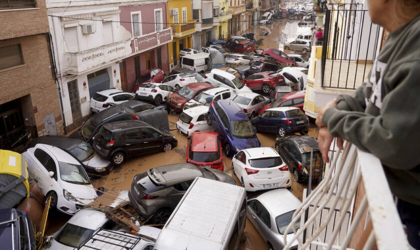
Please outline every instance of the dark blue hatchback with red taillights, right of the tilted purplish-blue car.
M309 130L309 118L298 107L268 108L251 122L256 131L278 133L280 137Z

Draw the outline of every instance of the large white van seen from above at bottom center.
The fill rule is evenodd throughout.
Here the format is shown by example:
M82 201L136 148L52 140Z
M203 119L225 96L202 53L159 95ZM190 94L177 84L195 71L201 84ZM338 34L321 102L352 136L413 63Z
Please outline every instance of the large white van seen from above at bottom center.
M245 212L245 188L197 177L163 226L153 249L237 249Z

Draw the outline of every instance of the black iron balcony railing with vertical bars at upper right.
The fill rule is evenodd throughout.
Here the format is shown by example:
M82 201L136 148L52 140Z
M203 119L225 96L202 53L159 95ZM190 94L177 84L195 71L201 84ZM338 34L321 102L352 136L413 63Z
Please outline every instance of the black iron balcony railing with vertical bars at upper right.
M328 4L327 7L321 86L355 89L365 79L376 57L380 27L370 22L362 4Z

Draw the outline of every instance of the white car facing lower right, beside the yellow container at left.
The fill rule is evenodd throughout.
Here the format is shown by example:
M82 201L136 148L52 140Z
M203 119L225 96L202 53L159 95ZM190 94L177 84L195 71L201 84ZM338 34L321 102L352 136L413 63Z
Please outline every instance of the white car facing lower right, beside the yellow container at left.
M22 155L50 207L72 215L97 197L80 162L64 150L38 143Z

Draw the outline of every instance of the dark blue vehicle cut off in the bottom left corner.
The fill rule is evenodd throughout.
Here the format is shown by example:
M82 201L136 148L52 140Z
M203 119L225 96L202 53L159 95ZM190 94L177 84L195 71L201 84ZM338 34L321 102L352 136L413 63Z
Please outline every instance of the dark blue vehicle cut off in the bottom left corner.
M0 209L1 249L35 250L35 234L24 210Z

